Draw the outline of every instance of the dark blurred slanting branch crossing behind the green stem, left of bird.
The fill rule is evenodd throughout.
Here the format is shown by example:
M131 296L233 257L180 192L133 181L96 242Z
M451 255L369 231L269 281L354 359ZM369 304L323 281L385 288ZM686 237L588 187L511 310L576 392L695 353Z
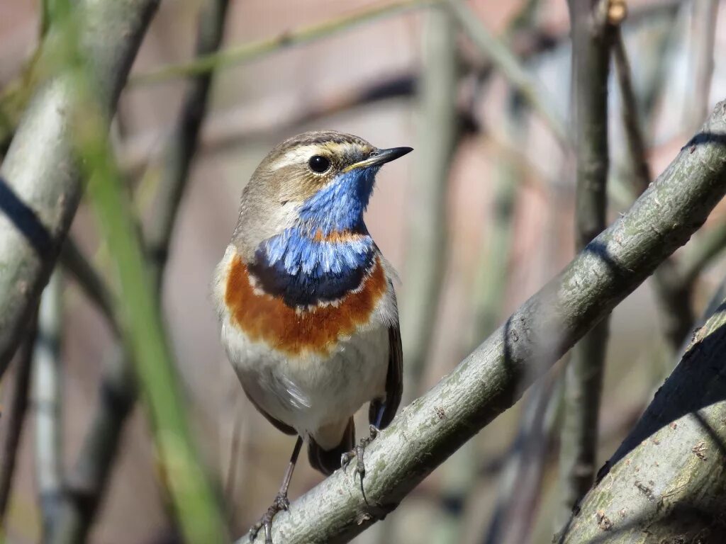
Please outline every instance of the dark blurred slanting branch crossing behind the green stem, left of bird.
M200 53L216 50L221 44L228 0L213 0L200 13L197 46ZM168 137L161 172L160 194L155 199L152 225L147 230L147 268L154 292L160 292L166 268L172 228L187 185L189 166L195 155L198 133L207 110L212 74L189 81L179 118ZM115 310L111 312L115 314ZM136 381L131 361L121 347L107 355L101 379L94 420L83 439L83 448L62 498L54 544L70 544L85 539L110 478L123 425L136 402Z

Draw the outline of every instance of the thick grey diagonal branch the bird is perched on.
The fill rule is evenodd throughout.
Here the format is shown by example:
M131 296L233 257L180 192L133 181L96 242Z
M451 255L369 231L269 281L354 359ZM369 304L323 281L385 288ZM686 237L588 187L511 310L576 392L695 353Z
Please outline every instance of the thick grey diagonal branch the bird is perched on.
M344 542L395 508L515 403L537 371L547 368L542 354L549 355L548 365L554 363L684 244L726 193L725 178L722 102L628 213L372 442L364 495L354 470L336 471L278 514L273 537L288 544Z

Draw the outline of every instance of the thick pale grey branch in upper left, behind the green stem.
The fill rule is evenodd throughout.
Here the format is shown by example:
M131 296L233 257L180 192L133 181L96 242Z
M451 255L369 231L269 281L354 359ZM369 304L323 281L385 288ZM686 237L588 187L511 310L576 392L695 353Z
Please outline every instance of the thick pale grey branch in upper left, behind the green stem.
M158 0L78 4L84 13L79 38L88 51L106 115L115 109L157 4ZM81 197L68 118L76 101L74 89L72 75L61 74L38 90L0 169L0 376L48 281Z

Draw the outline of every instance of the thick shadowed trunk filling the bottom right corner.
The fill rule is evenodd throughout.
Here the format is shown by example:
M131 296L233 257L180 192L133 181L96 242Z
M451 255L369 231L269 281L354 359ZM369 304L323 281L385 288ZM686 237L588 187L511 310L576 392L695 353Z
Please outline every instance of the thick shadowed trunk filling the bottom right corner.
M600 469L560 543L726 540L726 301Z

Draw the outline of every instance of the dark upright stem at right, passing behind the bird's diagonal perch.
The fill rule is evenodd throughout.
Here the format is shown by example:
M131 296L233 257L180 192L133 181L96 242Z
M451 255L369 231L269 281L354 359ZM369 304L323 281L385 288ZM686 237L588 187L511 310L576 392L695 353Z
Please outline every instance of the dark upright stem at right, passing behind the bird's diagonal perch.
M575 244L582 251L605 228L608 179L608 73L613 26L603 20L602 0L568 1L572 22L574 125L577 184ZM597 421L603 387L608 318L574 347L565 371L565 411L560 449L560 518L590 489L595 477Z

